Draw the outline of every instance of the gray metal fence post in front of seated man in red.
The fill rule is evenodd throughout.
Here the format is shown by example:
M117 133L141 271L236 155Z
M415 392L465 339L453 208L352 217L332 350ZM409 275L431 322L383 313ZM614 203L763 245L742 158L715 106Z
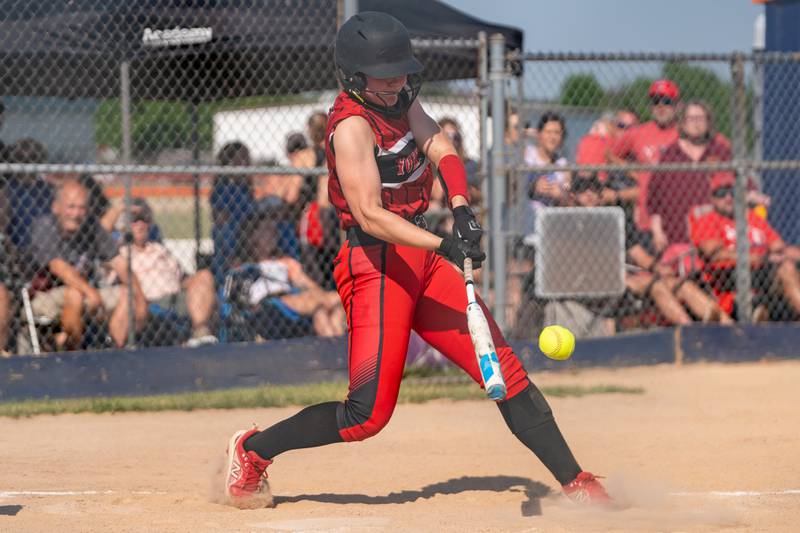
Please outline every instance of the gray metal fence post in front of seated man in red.
M744 84L744 58L735 54L731 60L733 78L733 157L736 160L734 219L736 220L736 311L740 322L752 322L753 294L750 278L750 239L747 224L747 101Z

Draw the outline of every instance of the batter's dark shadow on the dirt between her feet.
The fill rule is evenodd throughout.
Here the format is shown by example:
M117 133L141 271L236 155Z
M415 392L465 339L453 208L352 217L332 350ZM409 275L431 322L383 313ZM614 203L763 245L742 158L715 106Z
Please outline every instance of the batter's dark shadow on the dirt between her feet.
M366 494L299 494L297 496L276 496L275 504L314 501L341 505L361 503L369 505L386 505L410 503L419 499L429 499L440 494L460 494L467 491L506 492L522 491L525 501L521 505L522 516L539 516L542 514L541 499L550 495L550 488L538 481L518 476L464 476L434 483L420 490L404 490L392 492L386 496L367 496Z

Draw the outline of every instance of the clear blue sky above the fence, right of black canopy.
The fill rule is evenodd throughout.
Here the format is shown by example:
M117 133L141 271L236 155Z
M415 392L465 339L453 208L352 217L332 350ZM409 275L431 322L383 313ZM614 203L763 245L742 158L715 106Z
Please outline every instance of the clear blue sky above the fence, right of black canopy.
M526 52L750 51L751 0L443 0L525 32Z

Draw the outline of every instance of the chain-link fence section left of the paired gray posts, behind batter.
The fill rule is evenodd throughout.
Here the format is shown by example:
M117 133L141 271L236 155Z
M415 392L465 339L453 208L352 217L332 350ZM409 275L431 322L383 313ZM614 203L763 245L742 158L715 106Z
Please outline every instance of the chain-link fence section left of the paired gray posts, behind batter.
M342 2L3 5L4 353L344 334ZM412 36L426 109L481 160L485 44ZM439 189L428 215L448 227Z

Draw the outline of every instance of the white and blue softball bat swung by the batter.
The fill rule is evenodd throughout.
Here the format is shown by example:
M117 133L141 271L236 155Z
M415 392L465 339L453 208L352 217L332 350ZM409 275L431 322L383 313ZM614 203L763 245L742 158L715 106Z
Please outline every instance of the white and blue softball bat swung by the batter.
M492 400L503 400L506 397L506 382L500 372L500 361L489 330L489 322L483 314L481 306L475 298L475 282L472 279L472 259L464 260L464 283L467 287L467 326L478 368L481 371L486 395Z

